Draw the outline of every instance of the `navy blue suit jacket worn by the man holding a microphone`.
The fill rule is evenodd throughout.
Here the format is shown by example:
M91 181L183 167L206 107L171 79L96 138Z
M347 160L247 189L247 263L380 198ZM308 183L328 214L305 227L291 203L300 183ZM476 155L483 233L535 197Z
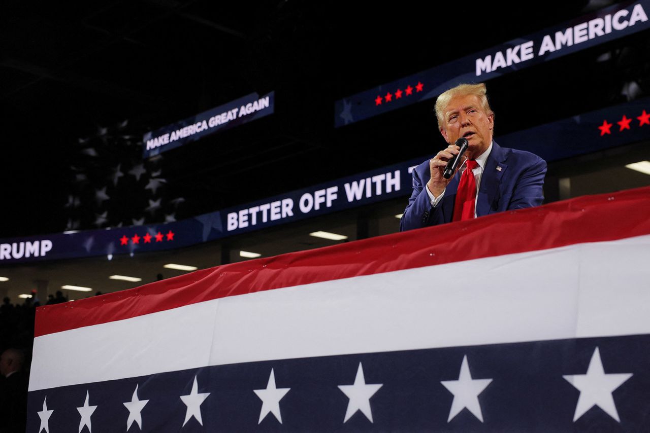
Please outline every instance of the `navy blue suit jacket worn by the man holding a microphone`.
M500 147L492 141L492 151L487 157L478 190L476 216L539 206L544 200L542 186L545 175L546 162L539 156ZM400 221L400 230L451 222L460 170L447 185L445 195L435 208L425 190L430 178L429 160L413 169L413 193Z

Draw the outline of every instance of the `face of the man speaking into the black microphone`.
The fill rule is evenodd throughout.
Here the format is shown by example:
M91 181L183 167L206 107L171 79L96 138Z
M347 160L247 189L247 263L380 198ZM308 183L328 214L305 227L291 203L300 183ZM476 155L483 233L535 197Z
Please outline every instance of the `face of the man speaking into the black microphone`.
M476 95L457 95L449 100L443 113L445 118L441 134L447 143L453 144L465 137L469 142L467 158L476 159L492 142L494 116L484 112L481 100Z

